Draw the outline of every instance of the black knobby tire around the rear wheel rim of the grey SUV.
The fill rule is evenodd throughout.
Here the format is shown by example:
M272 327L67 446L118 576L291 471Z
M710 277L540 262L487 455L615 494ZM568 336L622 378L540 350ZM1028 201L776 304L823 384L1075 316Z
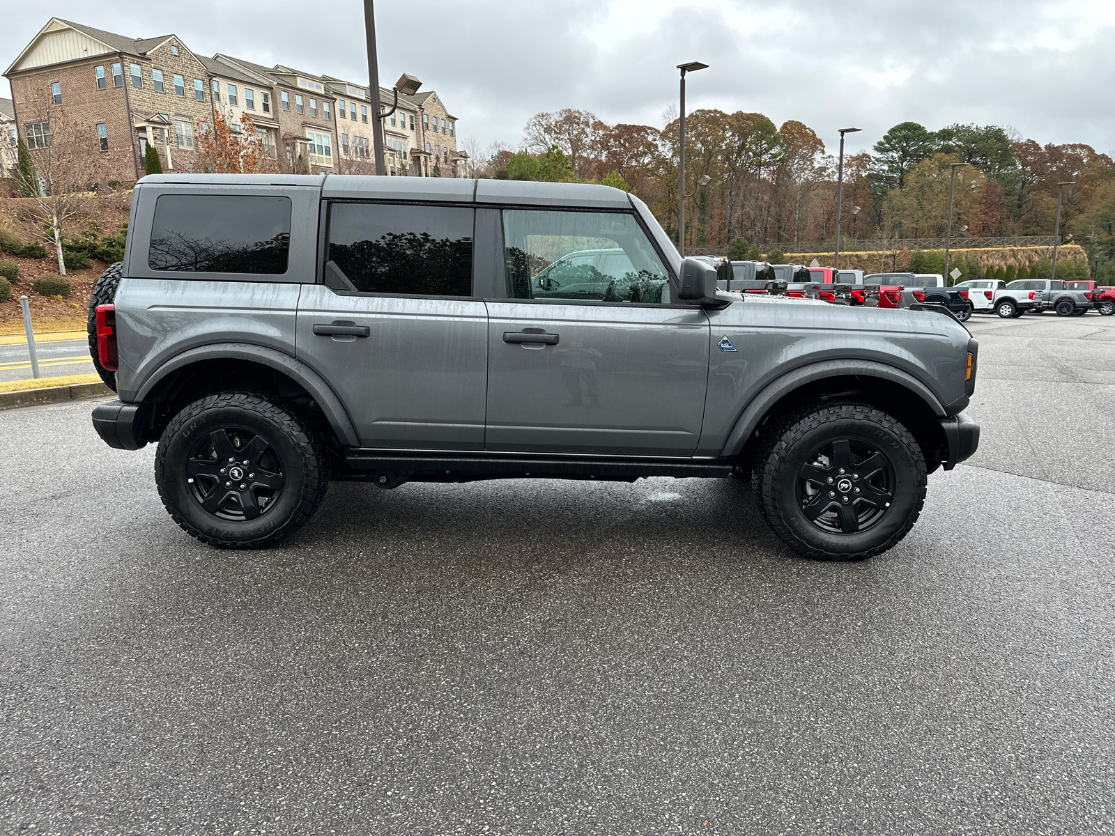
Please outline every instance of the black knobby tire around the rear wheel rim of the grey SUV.
M209 513L187 483L192 445L204 438L198 434L226 427L263 436L281 466L282 490L254 519ZM289 404L258 392L221 392L195 400L167 424L155 456L155 483L174 522L203 543L265 548L297 532L321 505L329 487L328 457L319 434Z

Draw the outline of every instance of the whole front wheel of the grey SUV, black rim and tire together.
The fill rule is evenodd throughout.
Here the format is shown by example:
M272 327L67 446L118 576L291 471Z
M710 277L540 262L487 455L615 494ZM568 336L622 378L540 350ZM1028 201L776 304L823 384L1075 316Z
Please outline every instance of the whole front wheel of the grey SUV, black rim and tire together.
M925 499L910 431L865 404L814 406L772 434L752 485L764 518L801 555L857 561L902 539Z

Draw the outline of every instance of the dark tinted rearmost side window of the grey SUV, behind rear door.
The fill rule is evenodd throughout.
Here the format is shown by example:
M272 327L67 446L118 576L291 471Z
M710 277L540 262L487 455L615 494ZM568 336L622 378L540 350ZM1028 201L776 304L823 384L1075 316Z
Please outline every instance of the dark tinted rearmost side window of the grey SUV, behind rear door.
M161 195L147 264L186 273L282 275L290 212L289 197Z

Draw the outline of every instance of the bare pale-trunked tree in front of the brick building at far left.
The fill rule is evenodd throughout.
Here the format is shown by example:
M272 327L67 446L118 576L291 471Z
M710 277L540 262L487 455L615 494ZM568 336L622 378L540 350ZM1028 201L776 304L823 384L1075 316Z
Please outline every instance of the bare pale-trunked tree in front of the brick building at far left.
M17 174L20 193L32 196L19 198L11 214L33 235L54 245L58 272L66 275L62 235L91 216L96 189L108 173L106 155L100 153L96 128L68 117L61 107L42 104L20 116L38 132L28 135L35 174L32 182Z

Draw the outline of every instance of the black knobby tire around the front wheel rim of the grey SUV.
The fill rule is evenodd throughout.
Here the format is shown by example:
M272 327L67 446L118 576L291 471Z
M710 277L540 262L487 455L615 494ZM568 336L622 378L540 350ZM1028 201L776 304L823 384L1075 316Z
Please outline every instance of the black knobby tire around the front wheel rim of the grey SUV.
M884 516L856 534L830 534L811 523L796 499L799 467L826 438L878 446L895 476ZM817 561L862 561L888 551L913 527L925 502L928 469L921 446L900 421L866 404L816 404L791 415L755 457L752 489L760 516L791 548Z

